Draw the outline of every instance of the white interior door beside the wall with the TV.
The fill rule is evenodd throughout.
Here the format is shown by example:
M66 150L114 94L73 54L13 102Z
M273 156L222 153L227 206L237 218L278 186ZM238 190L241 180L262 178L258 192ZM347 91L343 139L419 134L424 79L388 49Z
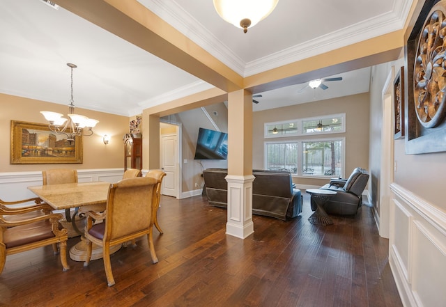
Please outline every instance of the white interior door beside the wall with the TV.
M167 134L161 136L161 168L166 173L166 176L162 180L161 194L167 196L174 196L178 198L178 172L177 166L177 136L176 134Z

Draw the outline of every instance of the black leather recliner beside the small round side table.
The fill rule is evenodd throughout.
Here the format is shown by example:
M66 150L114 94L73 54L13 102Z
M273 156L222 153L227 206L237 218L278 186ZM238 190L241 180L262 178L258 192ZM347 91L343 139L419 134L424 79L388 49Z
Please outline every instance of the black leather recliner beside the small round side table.
M369 173L364 168L357 167L348 179L332 179L319 189L336 191L325 204L323 210L334 215L354 215L362 205L362 192L369 181ZM314 200L311 201L312 210L316 210Z

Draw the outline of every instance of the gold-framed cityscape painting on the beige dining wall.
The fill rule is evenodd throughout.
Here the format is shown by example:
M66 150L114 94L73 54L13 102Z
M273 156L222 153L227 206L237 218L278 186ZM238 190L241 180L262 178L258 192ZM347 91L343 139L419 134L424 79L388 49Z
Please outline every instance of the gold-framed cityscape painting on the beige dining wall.
M11 164L82 163L82 136L68 141L48 125L11 120Z

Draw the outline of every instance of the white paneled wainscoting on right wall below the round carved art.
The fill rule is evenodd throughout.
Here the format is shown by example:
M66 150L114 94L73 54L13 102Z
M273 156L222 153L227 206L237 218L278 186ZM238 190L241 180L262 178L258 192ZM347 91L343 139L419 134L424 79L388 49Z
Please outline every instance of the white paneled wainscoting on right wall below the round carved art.
M389 262L404 306L446 306L446 212L391 184Z

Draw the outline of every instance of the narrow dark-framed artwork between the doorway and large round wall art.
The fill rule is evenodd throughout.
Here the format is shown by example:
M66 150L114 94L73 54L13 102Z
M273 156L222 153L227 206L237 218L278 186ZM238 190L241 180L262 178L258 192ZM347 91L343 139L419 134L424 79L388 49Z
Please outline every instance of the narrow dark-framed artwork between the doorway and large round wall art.
M404 138L404 68L393 82L394 139Z

